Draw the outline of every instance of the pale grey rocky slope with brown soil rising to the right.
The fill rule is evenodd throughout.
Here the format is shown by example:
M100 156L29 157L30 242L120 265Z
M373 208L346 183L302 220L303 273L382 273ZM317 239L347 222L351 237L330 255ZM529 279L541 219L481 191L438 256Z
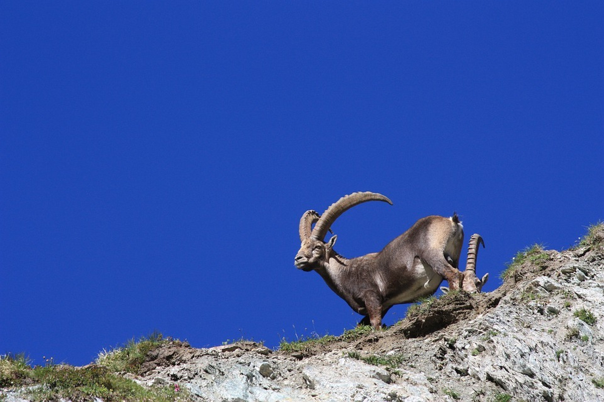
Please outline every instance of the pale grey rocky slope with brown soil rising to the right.
M427 300L387 330L278 351L165 342L126 376L193 401L604 401L603 336L597 225L572 250L519 253L496 291Z

